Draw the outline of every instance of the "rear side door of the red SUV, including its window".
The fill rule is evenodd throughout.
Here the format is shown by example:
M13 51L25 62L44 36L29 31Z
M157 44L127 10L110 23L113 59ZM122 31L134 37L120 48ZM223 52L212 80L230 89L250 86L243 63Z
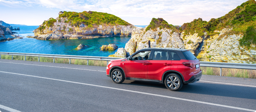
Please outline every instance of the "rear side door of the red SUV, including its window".
M171 64L168 51L154 50L148 63L148 79L162 80L162 75L171 69Z

